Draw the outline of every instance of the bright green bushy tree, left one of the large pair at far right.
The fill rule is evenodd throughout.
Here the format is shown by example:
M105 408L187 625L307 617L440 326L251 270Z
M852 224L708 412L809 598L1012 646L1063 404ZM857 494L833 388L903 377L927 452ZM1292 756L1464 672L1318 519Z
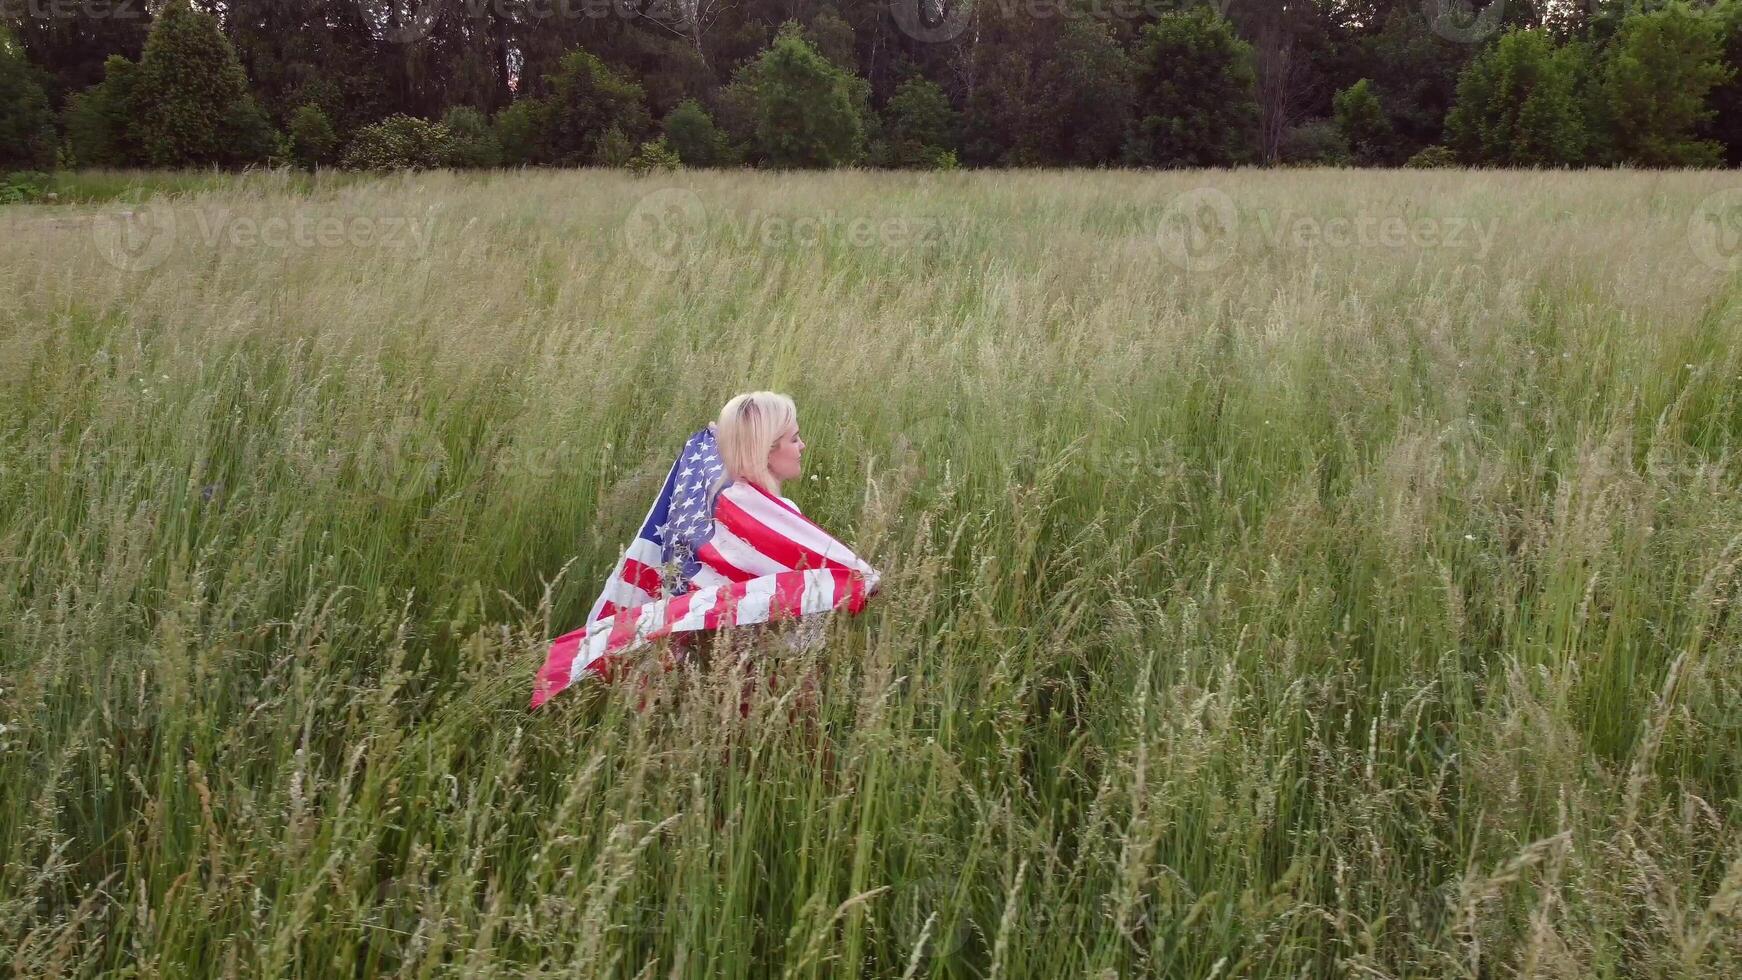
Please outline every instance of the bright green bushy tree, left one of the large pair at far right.
M1510 30L1465 68L1446 141L1465 164L1566 167L1585 162L1578 101L1583 50L1542 30Z

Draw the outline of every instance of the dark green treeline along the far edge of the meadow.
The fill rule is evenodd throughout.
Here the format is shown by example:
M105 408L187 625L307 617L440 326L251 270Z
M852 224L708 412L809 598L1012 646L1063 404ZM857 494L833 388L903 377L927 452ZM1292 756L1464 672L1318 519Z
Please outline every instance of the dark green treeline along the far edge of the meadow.
M0 0L0 167L1742 162L1742 0Z

